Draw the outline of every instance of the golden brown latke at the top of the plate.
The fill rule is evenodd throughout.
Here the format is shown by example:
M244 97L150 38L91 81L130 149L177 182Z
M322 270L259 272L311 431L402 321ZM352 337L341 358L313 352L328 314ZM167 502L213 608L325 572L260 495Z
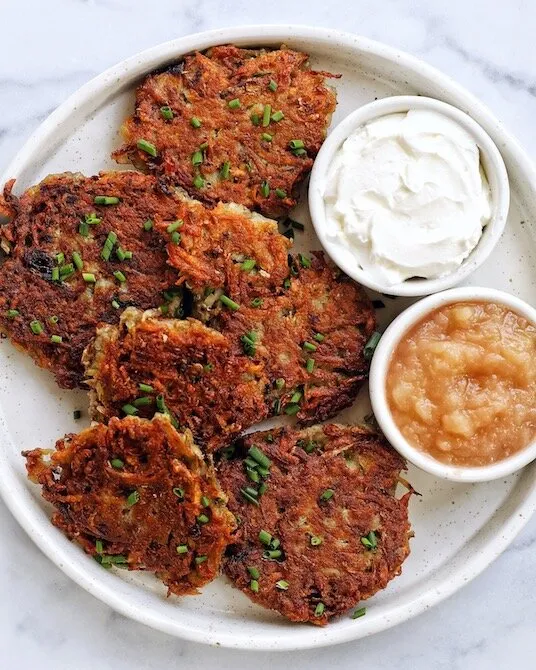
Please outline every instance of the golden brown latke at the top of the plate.
M334 75L310 70L307 59L285 47L225 45L150 74L114 158L206 203L284 215L296 204L336 105L325 84Z

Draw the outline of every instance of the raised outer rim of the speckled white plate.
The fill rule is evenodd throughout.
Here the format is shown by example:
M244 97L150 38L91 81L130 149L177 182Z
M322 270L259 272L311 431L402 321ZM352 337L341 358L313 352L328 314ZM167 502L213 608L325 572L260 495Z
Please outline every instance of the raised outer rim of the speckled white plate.
M492 136L503 153L505 151L508 153L507 162L509 160L516 164L518 172L536 192L536 170L524 150L484 105L452 79L413 56L358 35L325 28L285 24L250 25L203 32L166 42L122 61L91 80L60 105L29 138L0 177L0 183L17 176L23 167L31 162L32 156L46 143L50 143L59 125L68 123L69 119L73 115L80 114L81 110L94 109L98 104L105 102L113 95L118 85L124 85L125 78L133 80L181 54L217 44L234 42L239 45L269 45L292 40L309 43L312 53L315 45L336 44L348 51L354 51L356 55L367 54L384 62L390 61L397 68L405 68L440 86L442 98L470 113ZM11 441L1 408L0 439L4 443ZM112 575L104 573L97 576L96 572L88 570L85 562L69 559L62 551L64 538L48 520L46 524L44 523L41 508L12 470L7 450L0 449L0 494L7 507L50 560L90 594L121 614L166 633L205 644L257 650L288 651L356 640L410 619L447 598L495 560L536 510L536 468L530 468L530 472L526 472L525 475L531 481L525 486L526 491L523 495L514 495L513 500L509 499L505 503L509 506L506 521L497 524L493 532L488 529L485 538L481 537L482 533L477 533L473 538L477 549L473 555L468 558L460 554L458 558L453 559L447 576L440 582L433 581L430 588L417 597L413 597L410 592L407 597L400 599L398 605L387 610L380 608L377 612L371 612L359 620L359 625L352 627L292 626L292 635L278 637L277 630L272 635L256 635L252 634L252 631L248 632L248 622L245 620L244 634L236 635L212 625L203 627L192 623L185 626L183 623L172 621L162 612L144 607L142 598L136 601L131 594L127 595L125 589L118 587L118 580Z

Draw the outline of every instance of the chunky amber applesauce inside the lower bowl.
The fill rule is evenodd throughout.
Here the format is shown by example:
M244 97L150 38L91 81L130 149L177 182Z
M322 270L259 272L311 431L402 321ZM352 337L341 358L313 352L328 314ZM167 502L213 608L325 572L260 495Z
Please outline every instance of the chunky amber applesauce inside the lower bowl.
M400 341L386 385L412 446L451 465L503 460L536 439L536 327L497 303L445 305Z

